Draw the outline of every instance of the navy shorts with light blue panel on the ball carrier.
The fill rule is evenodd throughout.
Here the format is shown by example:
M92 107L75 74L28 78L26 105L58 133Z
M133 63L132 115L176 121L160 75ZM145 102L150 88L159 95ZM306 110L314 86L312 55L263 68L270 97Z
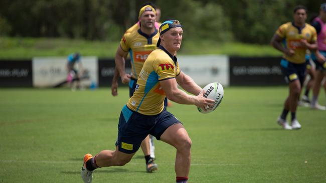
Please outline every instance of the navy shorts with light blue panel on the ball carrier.
M136 152L141 141L151 134L160 139L163 132L171 125L181 123L172 113L164 110L156 115L144 115L130 110L126 105L122 108L118 125L118 138L115 145L125 153Z

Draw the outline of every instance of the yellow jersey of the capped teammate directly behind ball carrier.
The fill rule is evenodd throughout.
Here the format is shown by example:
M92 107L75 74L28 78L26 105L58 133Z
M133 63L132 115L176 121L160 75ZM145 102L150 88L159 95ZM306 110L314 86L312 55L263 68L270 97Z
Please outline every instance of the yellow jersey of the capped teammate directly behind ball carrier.
M151 51L156 49L158 38L159 33L157 29L151 35L143 33L140 28L124 33L120 41L120 46L122 50L129 52L132 77L138 77L147 56Z

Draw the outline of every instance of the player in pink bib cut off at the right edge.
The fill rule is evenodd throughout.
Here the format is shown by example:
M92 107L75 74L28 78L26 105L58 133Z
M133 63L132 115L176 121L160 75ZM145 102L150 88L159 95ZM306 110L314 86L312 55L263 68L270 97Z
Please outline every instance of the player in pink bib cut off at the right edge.
M311 58L316 65L316 78L312 87L311 108L326 110L325 106L318 104L318 95L322 80L326 78L326 3L320 5L319 16L315 17L311 25L317 31L318 50L311 54ZM323 83L326 91L326 81Z

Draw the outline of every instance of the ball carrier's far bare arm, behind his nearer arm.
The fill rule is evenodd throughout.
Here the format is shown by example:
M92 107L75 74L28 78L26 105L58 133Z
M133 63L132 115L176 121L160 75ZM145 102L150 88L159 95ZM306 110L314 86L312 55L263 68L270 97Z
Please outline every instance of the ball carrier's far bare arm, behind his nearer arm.
M184 88L186 91L198 95L202 88L196 84L196 82L187 74L185 74L183 71L180 72L180 74L176 77L177 83Z

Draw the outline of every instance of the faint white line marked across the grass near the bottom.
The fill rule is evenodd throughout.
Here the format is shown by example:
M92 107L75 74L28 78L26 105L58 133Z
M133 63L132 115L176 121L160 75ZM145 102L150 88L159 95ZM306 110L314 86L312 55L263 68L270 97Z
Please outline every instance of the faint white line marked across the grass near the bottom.
M10 160L10 159L0 159L0 162L12 162L12 163L49 163L49 164L64 164L64 163L70 163L70 164L80 164L82 163L82 159L79 161L47 161L47 160ZM143 164L140 162L129 162L128 164ZM159 164L172 164L170 162L159 162ZM227 163L191 163L192 166L240 166L242 164L227 164Z

